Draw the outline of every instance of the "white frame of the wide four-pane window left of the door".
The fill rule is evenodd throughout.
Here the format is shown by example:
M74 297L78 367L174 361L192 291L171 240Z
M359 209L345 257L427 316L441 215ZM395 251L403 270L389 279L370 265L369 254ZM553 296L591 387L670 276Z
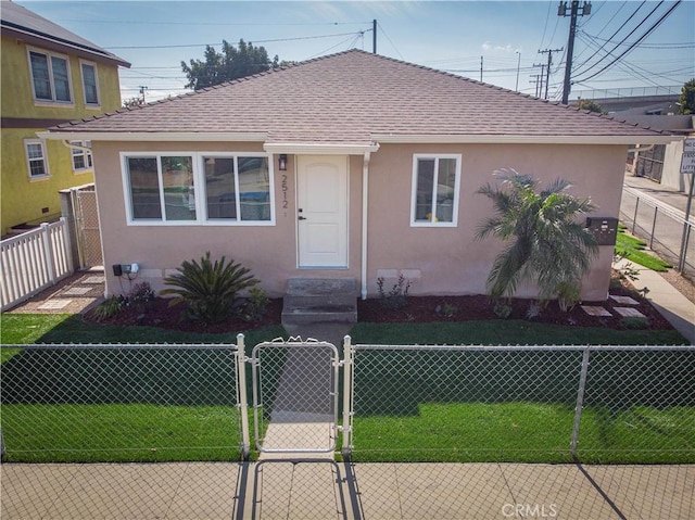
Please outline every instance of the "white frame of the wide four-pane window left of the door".
M164 200L162 198L162 157L180 157L190 156L192 158L193 186L195 196L195 219L194 220L166 220ZM157 177L160 185L160 203L162 204L162 218L134 218L132 216L132 199L130 193L130 180L128 175L128 158L156 158ZM203 161L205 158L230 158L230 157L263 157L268 163L268 183L270 193L270 219L269 220L241 220L239 206L237 206L237 219L207 219L207 193L205 191L205 167ZM237 161L235 160L235 186L238 187ZM123 195L126 208L126 220L128 226L240 226L240 227L261 227L275 226L275 174L273 167L273 155L265 152L121 152L121 172L123 179ZM239 191L237 189L237 200Z

